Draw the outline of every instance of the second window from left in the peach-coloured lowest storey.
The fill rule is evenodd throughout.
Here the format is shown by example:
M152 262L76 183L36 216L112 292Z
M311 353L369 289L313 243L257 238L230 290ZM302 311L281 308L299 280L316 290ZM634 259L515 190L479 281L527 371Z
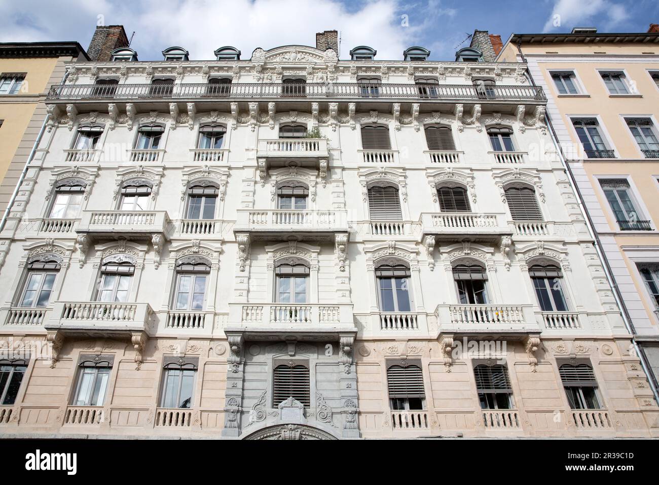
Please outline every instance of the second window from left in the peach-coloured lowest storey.
M78 379L71 405L103 406L113 364L113 356L80 356Z

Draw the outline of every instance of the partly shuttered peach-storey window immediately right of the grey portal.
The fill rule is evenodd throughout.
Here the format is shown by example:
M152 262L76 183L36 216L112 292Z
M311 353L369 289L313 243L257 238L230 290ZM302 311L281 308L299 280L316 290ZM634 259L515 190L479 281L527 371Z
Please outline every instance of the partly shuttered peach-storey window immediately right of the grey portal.
M420 410L426 408L421 362L395 360L387 362L387 388L392 410ZM394 423L396 425L398 423Z

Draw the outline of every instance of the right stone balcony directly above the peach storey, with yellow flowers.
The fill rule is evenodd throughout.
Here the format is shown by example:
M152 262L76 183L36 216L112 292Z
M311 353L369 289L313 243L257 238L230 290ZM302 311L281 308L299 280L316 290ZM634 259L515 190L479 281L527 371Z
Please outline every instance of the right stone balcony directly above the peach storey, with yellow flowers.
M540 333L530 305L438 305L436 316L440 333L510 336Z

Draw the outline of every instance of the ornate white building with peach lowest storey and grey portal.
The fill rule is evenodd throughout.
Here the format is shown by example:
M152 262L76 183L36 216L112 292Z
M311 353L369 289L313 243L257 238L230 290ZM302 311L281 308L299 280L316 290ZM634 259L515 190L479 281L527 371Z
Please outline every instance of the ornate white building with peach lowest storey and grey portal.
M67 65L0 234L3 436L658 436L527 65L336 34Z

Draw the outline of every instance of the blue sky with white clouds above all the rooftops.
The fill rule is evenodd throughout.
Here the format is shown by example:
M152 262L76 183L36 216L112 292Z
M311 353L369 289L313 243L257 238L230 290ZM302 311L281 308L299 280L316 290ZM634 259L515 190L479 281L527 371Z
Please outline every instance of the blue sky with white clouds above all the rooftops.
M659 23L659 0L0 0L0 42L78 41L83 48L97 25L122 24L140 61L182 46L190 59L214 59L235 46L242 59L257 48L315 46L316 32L339 30L339 57L370 46L376 59L402 59L410 46L430 59L453 61L475 29L500 34L646 32Z

